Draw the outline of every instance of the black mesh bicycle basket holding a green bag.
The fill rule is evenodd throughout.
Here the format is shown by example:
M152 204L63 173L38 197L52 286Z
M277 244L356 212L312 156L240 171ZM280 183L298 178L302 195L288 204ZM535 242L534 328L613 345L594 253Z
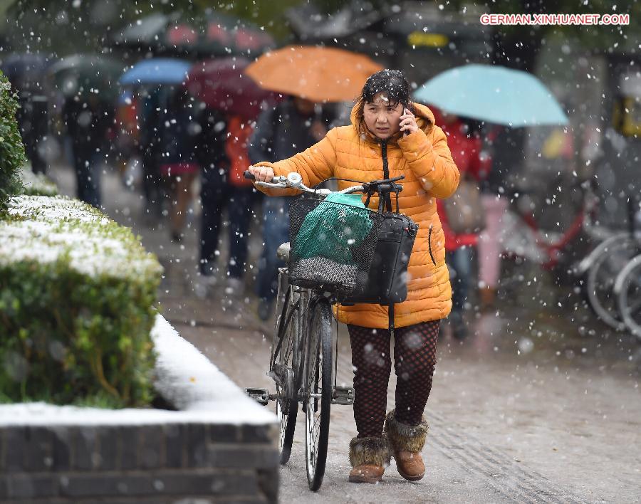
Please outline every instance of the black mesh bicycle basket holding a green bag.
M344 201L344 200L341 200ZM297 199L289 207L289 282L348 295L367 283L382 216L360 203Z

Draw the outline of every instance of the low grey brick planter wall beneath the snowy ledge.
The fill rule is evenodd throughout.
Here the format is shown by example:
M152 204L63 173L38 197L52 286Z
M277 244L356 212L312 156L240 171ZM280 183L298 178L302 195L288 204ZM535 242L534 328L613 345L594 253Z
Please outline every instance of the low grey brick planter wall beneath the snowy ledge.
M3 426L0 500L275 503L277 434L273 424Z

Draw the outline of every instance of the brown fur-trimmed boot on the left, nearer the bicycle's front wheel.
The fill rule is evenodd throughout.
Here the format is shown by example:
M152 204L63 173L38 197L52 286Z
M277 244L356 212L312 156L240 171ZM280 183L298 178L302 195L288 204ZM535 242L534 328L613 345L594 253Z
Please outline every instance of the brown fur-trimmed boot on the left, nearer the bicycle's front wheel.
M350 464L352 483L378 483L390 465L390 446L385 436L353 438L350 441Z

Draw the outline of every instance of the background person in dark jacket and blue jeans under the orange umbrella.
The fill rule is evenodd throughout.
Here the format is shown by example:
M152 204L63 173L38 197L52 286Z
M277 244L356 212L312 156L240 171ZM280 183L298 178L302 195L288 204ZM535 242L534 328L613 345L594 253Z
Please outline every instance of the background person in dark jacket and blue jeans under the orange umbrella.
M249 142L250 161L276 162L322 140L331 118L319 114L318 108L310 100L290 97L262 112ZM293 199L291 196L264 199L263 252L256 283L261 320L267 320L271 315L278 290L278 267L285 266L276 258L276 250L281 243L289 241L288 209Z

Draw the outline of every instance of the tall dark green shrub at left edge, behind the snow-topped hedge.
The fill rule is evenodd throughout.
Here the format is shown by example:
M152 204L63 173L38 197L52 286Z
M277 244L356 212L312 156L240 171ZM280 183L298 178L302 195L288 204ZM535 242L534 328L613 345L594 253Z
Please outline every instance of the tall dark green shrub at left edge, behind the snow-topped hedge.
M9 198L21 192L18 172L26 162L24 145L18 123L16 95L11 95L11 84L0 72L0 214L6 211Z

